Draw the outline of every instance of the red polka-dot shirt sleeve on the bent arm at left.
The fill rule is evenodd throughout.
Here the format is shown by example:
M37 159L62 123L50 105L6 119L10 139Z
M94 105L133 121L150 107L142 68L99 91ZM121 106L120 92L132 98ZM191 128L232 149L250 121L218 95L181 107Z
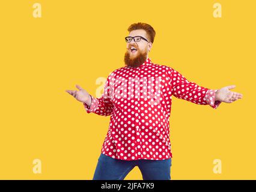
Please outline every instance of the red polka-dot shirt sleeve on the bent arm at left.
M87 111L87 113L96 113L97 115L103 115L103 116L108 116L111 115L112 111L113 111L113 107L114 104L111 101L111 94L110 94L110 87L112 85L111 83L111 79L112 76L114 76L113 73L111 73L108 76L108 79L105 82L104 85L104 90L103 90L103 94L100 98L95 98L93 96L91 96L91 105L88 106L88 104L83 103L85 110Z

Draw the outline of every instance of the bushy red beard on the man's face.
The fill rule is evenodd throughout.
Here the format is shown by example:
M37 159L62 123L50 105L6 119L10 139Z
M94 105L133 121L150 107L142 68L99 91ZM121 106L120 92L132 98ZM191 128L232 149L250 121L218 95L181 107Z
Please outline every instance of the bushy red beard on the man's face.
M124 54L124 64L126 67L139 67L143 64L147 59L147 52L141 52L137 49L137 56L134 58L130 58L130 49L127 49L126 53Z

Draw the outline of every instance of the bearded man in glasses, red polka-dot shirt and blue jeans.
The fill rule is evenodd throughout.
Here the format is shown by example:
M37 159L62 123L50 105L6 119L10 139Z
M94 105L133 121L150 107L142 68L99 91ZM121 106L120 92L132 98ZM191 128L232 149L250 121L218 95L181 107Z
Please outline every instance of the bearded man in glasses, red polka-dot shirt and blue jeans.
M234 85L204 88L171 67L154 64L148 58L156 35L152 26L134 23L128 31L125 67L109 74L102 97L94 98L79 85L79 91L67 92L81 101L88 113L111 115L93 179L124 179L138 166L143 179L169 180L171 96L216 109L242 94L230 91Z

